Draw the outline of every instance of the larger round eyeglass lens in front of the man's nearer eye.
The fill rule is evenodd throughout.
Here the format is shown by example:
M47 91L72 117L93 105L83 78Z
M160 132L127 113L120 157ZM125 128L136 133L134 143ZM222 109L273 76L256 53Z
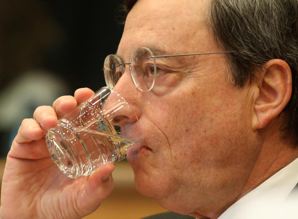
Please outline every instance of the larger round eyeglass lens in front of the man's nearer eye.
M139 47L130 56L130 72L133 82L141 91L150 91L156 79L156 63L152 51L146 47Z

